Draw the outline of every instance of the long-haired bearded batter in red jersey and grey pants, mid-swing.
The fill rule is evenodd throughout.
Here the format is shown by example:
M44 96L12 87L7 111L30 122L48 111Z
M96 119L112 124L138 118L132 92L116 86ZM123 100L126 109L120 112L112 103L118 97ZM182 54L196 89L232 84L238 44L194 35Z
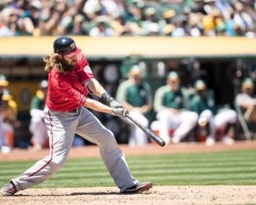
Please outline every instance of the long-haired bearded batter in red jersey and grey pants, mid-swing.
M113 133L87 108L117 117L124 117L127 111L93 77L87 59L72 38L57 38L53 49L54 52L44 58L45 71L49 73L44 110L49 135L49 156L2 187L2 195L13 196L55 174L67 160L75 133L99 146L106 168L121 193L143 192L152 188L151 182L139 182L132 177ZM110 106L88 99L88 92L99 96Z

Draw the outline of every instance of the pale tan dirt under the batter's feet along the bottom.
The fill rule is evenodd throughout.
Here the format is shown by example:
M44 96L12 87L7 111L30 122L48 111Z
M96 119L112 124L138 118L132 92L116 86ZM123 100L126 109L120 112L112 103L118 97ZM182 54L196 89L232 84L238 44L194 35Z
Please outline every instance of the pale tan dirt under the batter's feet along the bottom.
M118 194L113 187L27 189L0 196L0 204L248 204L256 203L256 186L156 186L150 192Z

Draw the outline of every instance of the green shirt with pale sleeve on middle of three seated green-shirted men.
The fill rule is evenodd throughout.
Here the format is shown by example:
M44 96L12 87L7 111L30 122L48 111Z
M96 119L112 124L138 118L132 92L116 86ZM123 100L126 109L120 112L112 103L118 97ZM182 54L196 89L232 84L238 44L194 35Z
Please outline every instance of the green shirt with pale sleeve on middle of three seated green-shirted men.
M185 108L185 99L181 89L174 92L171 91L169 85L164 85L157 89L153 102L153 108L156 112L159 112L160 110L166 109L166 107L177 110Z

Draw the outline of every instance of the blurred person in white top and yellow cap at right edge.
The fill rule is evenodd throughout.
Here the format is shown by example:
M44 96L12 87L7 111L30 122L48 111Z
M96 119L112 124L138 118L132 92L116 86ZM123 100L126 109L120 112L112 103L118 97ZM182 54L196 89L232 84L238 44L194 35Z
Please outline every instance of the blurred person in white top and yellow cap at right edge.
M248 122L256 122L256 97L254 95L254 82L250 77L243 80L241 92L236 95L236 105L240 107Z

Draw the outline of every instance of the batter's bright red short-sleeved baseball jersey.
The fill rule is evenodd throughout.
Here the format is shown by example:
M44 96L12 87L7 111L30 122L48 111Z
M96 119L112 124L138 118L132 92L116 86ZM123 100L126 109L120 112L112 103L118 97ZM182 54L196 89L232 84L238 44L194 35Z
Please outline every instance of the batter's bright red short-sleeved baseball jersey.
M92 70L81 53L77 55L76 68L67 74L55 69L50 70L46 106L50 110L63 112L83 106L88 95L84 84L91 78L93 78Z

